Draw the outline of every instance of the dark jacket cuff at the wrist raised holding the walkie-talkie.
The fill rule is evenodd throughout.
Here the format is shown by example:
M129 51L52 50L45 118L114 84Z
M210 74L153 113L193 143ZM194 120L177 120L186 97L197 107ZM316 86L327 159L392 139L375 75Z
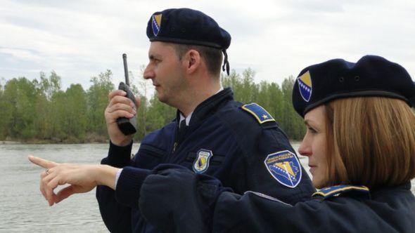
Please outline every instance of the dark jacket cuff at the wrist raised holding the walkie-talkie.
M129 145L126 145L124 147L114 145L113 142L110 141L108 157L104 158L101 161L101 164L115 166L116 168L123 168L125 166L129 166L131 161L131 149L132 141L129 143Z

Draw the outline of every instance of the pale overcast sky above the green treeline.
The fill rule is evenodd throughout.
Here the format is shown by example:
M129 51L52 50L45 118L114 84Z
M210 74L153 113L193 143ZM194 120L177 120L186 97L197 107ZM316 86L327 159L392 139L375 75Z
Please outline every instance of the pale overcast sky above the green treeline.
M122 53L141 79L148 19L183 7L203 11L231 34L231 69L250 67L257 82L281 84L308 65L367 54L399 63L415 79L414 0L0 0L0 84L55 71L64 90L87 89L106 69L117 84Z

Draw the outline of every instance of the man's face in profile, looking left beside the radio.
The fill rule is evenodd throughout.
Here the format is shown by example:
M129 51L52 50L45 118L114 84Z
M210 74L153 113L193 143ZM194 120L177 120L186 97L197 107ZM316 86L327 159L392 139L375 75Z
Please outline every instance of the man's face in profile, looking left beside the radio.
M153 81L161 102L176 107L186 87L183 64L177 57L176 50L172 44L154 41L148 50L148 59L144 79Z

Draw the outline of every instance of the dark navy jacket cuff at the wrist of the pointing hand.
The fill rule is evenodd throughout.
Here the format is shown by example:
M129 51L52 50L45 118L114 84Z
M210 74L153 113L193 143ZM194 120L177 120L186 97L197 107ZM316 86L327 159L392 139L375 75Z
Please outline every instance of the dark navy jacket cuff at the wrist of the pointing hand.
M115 199L120 204L138 209L141 185L151 174L153 172L147 169L130 166L123 168L115 187Z

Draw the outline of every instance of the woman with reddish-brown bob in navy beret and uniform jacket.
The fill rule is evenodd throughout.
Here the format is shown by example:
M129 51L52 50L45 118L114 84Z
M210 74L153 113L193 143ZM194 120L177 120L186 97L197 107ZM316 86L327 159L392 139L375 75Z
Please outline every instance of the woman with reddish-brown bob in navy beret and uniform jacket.
M215 178L162 166L141 187L141 213L165 232L414 232L415 84L407 71L373 55L312 65L295 82L293 105L307 126L299 152L320 189L309 201L241 196Z

